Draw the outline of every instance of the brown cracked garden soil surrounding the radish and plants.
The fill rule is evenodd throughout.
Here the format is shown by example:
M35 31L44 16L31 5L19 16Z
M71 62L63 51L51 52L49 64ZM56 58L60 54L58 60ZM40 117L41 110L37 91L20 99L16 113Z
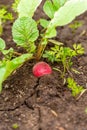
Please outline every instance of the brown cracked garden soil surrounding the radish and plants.
M44 2L44 1L43 1ZM0 4L11 5L10 0L0 0ZM46 17L38 8L34 18ZM85 54L74 60L74 74L79 85L87 88L87 12L77 18L83 25L74 32L67 25L58 28L58 41L67 46L81 43ZM11 36L12 22L4 26L2 38L7 48L14 47ZM19 50L22 51L22 50ZM26 62L3 84L0 94L0 130L87 130L87 92L76 100L57 71L51 75L35 78L32 74L34 61ZM58 64L54 66L58 67Z

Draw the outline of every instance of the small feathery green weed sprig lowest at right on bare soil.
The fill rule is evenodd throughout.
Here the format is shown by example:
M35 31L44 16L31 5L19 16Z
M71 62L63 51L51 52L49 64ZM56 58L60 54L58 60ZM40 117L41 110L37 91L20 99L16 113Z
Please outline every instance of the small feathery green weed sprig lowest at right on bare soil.
M72 95L75 97L78 94L80 94L82 91L84 91L84 88L80 85L77 85L77 83L72 78L67 79L68 88L71 89Z

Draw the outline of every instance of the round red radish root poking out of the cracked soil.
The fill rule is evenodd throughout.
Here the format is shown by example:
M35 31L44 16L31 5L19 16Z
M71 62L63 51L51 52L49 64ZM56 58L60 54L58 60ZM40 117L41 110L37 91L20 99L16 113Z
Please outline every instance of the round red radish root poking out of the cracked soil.
M51 74L52 69L46 62L38 62L33 67L33 74L36 77L41 77L47 74Z

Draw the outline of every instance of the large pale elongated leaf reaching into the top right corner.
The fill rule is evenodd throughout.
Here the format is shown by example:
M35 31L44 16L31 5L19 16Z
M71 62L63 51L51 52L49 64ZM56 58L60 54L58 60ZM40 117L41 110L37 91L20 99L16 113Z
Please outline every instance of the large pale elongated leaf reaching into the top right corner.
M76 16L87 10L87 0L69 0L64 6L57 10L54 18L50 21L47 33L50 28L63 26L70 23Z

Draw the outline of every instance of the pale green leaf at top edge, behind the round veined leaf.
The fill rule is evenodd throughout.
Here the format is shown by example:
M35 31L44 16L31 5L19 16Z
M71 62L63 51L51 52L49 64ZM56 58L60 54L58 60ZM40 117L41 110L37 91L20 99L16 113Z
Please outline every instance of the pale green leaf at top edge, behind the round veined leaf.
M32 17L42 0L20 0L17 8L19 17Z

